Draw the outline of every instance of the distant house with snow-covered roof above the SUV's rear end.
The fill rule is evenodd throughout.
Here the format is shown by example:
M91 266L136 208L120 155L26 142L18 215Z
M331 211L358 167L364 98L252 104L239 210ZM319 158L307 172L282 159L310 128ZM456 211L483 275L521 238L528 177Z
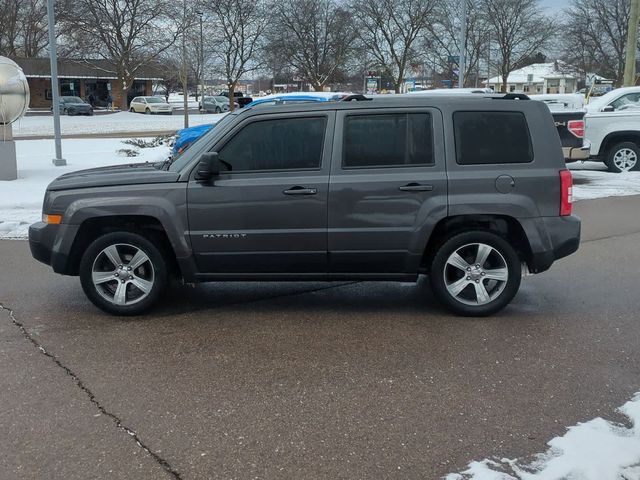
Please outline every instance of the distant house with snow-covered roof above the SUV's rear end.
M581 78L574 67L560 60L551 63L534 63L509 74L507 92L529 95L575 93ZM483 83L499 92L502 88L502 76L492 77Z

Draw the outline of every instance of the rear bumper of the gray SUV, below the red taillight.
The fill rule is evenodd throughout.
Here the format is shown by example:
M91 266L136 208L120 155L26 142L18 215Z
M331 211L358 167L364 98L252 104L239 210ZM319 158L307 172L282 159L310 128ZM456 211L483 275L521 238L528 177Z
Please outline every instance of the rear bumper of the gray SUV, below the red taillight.
M543 217L544 230L547 232L550 248L543 252L534 252L529 264L532 273L541 273L561 258L578 250L580 246L580 218L576 215L567 217Z

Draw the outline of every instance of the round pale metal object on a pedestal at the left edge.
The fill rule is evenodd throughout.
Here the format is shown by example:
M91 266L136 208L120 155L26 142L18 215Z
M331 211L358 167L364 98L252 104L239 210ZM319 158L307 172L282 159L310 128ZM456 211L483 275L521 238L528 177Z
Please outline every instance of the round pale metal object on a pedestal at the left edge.
M0 57L0 125L21 118L29 108L29 84L16 62Z

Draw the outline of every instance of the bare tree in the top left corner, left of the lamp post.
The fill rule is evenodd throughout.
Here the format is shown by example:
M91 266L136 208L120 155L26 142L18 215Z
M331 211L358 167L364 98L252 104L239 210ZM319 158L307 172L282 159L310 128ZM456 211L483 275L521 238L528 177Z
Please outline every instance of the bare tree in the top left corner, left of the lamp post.
M36 57L48 44L44 0L0 0L0 54Z

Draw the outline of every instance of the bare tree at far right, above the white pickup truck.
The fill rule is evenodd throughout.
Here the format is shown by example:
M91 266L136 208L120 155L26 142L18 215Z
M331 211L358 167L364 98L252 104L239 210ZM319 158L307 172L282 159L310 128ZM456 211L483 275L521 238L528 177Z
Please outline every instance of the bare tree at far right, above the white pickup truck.
M566 60L583 73L622 83L629 24L628 0L573 0L563 28Z

